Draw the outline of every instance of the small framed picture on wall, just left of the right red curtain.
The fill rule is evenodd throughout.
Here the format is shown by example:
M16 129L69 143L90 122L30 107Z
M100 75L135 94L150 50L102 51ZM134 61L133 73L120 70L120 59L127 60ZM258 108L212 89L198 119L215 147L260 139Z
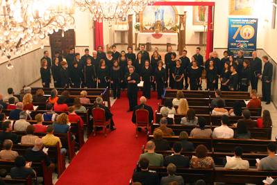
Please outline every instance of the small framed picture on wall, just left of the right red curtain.
M203 25L208 22L208 6L193 6L192 24Z

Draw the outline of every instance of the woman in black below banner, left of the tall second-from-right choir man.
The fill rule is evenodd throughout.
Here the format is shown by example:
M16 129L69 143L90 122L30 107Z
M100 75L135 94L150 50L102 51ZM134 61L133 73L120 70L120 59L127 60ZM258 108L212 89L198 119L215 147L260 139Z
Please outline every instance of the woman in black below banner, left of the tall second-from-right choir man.
M240 91L248 91L251 80L251 71L249 67L249 60L244 60L242 72L240 73Z

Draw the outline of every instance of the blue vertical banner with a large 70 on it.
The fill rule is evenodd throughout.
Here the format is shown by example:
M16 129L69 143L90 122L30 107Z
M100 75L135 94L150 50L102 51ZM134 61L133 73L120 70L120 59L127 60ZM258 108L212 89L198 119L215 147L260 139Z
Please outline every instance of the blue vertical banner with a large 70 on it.
M258 19L229 18L228 53L237 55L244 52L244 57L251 57L256 50Z

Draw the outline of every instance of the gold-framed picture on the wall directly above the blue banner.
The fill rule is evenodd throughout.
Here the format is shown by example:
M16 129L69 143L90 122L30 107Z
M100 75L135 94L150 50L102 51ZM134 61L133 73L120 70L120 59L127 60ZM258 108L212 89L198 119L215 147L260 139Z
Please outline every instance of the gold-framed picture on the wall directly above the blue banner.
M255 0L229 0L229 15L252 15Z

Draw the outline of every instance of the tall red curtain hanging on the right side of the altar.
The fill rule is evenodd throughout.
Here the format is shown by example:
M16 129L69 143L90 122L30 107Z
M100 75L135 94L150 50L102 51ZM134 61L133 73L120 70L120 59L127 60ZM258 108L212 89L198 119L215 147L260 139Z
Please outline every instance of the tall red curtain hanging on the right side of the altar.
M207 30L207 46L206 46L206 52L205 52L205 58L206 60L209 58L209 53L212 52L214 47L214 39L213 39L213 33L214 33L214 26L213 26L213 11L212 6L209 6L208 8L208 30Z

